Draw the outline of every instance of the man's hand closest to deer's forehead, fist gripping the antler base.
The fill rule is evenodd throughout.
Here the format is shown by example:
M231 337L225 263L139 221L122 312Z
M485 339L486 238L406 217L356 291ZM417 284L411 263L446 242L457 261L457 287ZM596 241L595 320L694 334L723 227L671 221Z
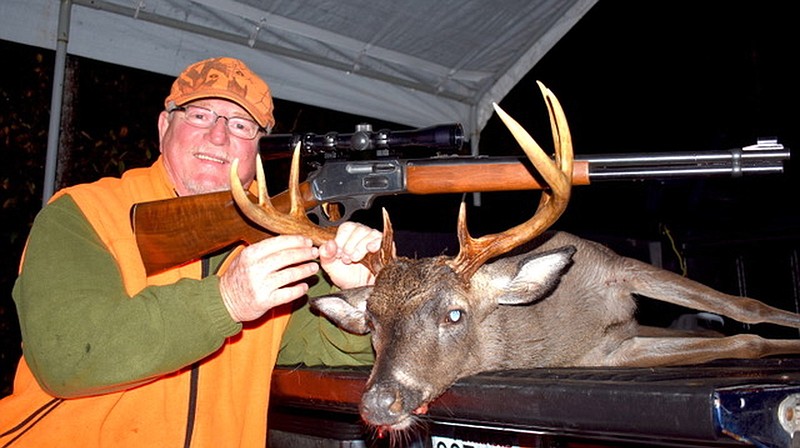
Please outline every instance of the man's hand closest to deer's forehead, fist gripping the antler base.
M375 282L375 276L359 261L367 252L379 251L382 238L381 232L370 227L349 221L342 223L336 238L319 248L322 269L342 289L371 285Z

